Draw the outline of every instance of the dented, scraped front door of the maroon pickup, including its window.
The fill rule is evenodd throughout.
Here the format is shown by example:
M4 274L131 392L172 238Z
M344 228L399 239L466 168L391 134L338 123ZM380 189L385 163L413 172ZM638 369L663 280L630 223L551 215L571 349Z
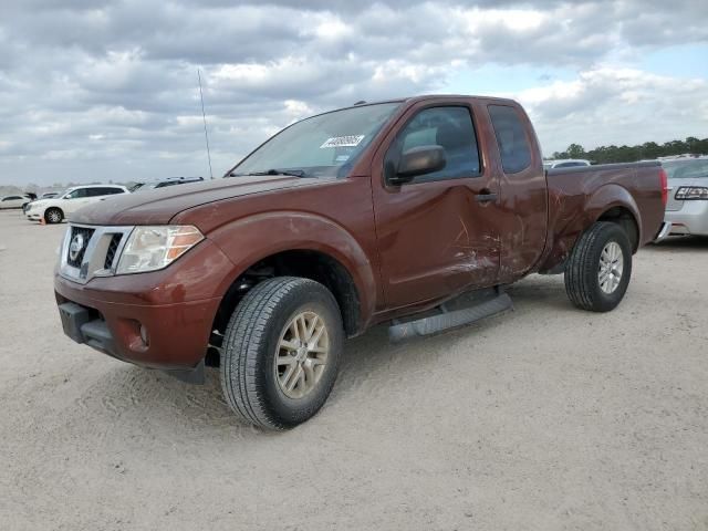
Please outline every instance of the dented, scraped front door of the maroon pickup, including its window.
M402 122L384 140L384 153L374 157L372 168L387 308L494 285L498 179L482 166L472 107L462 102L413 106ZM392 184L400 155L424 145L445 149L445 167Z

